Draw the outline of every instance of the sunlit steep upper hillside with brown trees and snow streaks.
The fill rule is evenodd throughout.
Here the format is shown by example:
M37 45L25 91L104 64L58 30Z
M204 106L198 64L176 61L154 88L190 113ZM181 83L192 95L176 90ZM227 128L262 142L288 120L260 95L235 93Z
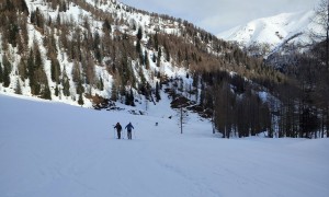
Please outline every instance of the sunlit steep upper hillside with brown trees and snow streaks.
M269 76L261 60L188 21L116 0L14 0L0 10L1 92L86 107L103 99L134 105L171 78Z

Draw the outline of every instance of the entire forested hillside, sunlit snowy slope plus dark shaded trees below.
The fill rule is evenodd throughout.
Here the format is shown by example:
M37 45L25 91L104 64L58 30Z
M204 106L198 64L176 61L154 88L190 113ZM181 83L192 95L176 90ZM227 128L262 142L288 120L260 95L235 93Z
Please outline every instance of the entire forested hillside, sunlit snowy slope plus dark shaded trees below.
M227 138L329 128L328 102L316 102L326 94L314 96L313 84L182 19L116 0L4 0L0 20L1 92L109 108L157 104L166 91L185 99L172 107L212 118Z

